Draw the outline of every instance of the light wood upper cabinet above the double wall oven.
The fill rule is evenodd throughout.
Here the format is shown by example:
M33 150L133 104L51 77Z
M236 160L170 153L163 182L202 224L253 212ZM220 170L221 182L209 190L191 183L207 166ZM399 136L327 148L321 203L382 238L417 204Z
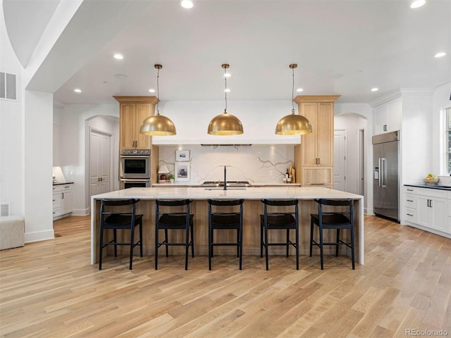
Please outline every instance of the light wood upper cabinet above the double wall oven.
M114 96L120 104L119 148L150 149L152 137L140 134L142 121L154 115L156 96Z

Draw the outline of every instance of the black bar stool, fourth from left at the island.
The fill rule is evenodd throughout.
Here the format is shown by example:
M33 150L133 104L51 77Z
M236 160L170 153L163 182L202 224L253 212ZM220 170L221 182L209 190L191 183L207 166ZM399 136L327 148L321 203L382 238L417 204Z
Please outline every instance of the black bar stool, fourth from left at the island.
M266 270L268 270L268 246L286 246L287 257L290 245L296 249L296 270L299 270L299 208L297 199L289 200L271 200L262 199L263 215L260 215L260 257L263 257L263 248L265 248ZM271 212L268 211L268 206ZM285 207L293 207L293 211L285 211ZM275 209L284 208L284 211L275 211ZM279 209L280 210L280 209ZM268 230L285 230L285 242L268 243ZM295 230L295 242L290 240L290 230Z

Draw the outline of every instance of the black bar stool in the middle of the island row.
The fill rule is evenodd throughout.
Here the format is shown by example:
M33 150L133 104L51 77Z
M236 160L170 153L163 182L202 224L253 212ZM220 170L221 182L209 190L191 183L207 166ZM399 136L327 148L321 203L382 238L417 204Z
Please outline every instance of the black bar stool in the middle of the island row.
M236 246L242 269L242 204L244 199L209 199L209 270L214 246ZM222 207L240 206L239 211L218 211ZM222 208L223 209L223 208ZM214 230L236 230L236 242L214 242Z

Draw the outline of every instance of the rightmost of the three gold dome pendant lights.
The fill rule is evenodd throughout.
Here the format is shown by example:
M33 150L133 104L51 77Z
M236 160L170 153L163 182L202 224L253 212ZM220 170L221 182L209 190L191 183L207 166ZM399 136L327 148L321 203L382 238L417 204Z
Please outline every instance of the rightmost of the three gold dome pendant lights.
M278 135L302 135L311 133L311 124L302 115L295 114L295 68L296 63L290 65L292 69L293 86L292 86L292 109L291 114L285 115L276 125L276 134Z

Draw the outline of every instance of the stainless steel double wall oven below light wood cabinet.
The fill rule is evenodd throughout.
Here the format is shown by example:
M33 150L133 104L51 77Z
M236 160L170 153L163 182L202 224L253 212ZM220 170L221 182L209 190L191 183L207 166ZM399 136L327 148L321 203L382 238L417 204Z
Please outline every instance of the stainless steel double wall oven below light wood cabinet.
M150 187L150 149L121 149L119 155L121 189Z

